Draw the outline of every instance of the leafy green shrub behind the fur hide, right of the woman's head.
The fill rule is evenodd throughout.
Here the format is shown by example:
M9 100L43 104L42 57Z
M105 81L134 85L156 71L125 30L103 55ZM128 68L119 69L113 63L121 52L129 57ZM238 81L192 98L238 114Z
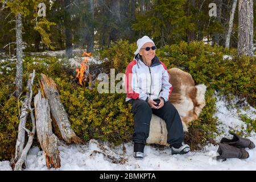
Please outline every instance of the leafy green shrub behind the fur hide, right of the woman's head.
M232 60L223 59L231 55ZM208 89L220 94L234 94L246 98L255 106L256 58L236 56L232 49L228 52L220 46L210 47L203 42L180 42L158 49L156 55L168 69L177 67L191 74L196 84L203 83Z

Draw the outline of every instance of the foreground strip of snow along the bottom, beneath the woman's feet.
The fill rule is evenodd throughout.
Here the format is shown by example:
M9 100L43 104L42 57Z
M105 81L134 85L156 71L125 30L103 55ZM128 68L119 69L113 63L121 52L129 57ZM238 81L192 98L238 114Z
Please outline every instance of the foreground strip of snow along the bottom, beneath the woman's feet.
M255 138L250 138L256 143ZM255 170L256 150L247 150L250 158L248 159L228 159L225 162L217 162L212 159L216 156L217 146L206 146L203 151L189 152L186 155L171 155L170 148L164 147L160 150L155 147L146 146L144 152L146 156L142 160L133 158L133 144L126 143L126 152L121 150L123 146L112 149L114 154L123 155L127 159L125 164L115 164L100 152L97 144L67 146L62 143L59 146L61 167L59 170ZM34 150L34 148L32 148ZM1 164L1 163L0 163ZM38 155L28 155L26 170L48 170L46 160L42 151ZM236 164L236 165L234 165ZM7 168L6 168L7 169Z

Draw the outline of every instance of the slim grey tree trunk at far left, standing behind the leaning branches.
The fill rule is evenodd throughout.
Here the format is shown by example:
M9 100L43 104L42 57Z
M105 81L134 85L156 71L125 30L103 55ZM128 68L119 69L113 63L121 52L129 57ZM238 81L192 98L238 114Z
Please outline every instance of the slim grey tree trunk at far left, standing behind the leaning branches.
M16 77L15 77L15 96L18 98L22 92L23 66L22 66L22 15L16 16Z

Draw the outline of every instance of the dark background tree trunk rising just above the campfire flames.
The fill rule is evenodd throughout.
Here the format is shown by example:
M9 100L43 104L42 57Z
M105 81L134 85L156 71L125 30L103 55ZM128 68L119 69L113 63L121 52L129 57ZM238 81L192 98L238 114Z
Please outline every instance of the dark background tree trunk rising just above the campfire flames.
M86 52L93 52L94 47L94 0L89 0L89 36Z

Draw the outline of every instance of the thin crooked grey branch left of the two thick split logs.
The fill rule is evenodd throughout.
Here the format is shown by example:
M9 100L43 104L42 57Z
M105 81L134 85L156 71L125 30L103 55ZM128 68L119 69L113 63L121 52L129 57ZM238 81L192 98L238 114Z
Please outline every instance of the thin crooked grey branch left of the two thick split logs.
M24 163L24 166L26 167L27 152L28 152L28 150L30 150L30 147L33 143L35 131L36 131L35 117L33 114L33 110L31 108L31 100L32 100L32 93L33 93L32 86L34 84L34 78L35 78L35 70L33 70L33 73L30 74L30 79L28 80L28 82L30 82L30 85L29 85L30 88L27 88L28 92L30 93L30 97L28 99L28 109L30 110L30 117L31 117L31 121L32 121L32 131L30 132L25 127L23 127L23 129L26 130L28 133L28 142L26 144L26 147L22 151L22 154L20 155L19 160L15 163L15 167L14 167L15 171L21 171L23 163Z

